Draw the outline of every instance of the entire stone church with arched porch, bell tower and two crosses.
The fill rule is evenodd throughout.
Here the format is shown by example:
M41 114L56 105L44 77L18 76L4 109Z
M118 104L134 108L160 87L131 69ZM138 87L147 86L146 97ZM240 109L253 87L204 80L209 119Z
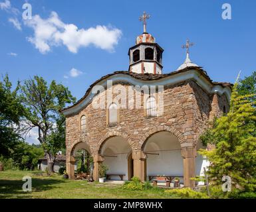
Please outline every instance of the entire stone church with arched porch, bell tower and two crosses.
M172 176L193 187L190 178L202 175L207 166L206 158L197 154L199 148L205 148L199 136L209 121L229 110L231 84L212 81L191 62L190 42L184 46L185 62L176 71L163 74L164 50L146 32L146 18L144 14L144 33L128 51L128 71L98 79L82 99L62 111L70 179L74 179L74 154L80 149L94 159L94 180L99 178L99 164L104 163L112 180L120 180L121 175L123 180L138 176L142 181ZM104 89L95 92L98 87ZM145 87L156 89L147 93ZM126 99L122 107L118 98ZM98 99L104 100L104 107L95 107ZM140 108L134 106L137 102Z

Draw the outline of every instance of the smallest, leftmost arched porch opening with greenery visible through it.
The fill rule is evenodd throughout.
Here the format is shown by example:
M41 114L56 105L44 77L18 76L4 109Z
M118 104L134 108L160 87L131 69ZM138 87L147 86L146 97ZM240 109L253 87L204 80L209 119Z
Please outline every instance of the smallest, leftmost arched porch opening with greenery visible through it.
M92 176L92 169L93 159L88 144L78 142L72 147L66 161L68 178L74 180L78 175L82 175L80 178L90 178Z

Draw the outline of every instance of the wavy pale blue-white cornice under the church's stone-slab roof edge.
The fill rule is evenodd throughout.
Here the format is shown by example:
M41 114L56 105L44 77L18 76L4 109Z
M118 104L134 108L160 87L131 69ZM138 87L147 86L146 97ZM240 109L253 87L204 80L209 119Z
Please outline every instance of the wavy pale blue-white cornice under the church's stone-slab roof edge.
M79 113L86 107L96 94L92 93L94 85L102 85L106 87L107 80L112 80L113 85L116 83L128 83L130 85L176 85L182 81L193 80L204 89L207 93L218 93L219 95L226 95L227 99L231 95L231 84L228 83L214 83L209 76L205 74L200 68L187 68L179 72L172 72L170 74L134 74L129 72L114 72L97 80L86 91L86 94L74 105L63 109L61 112L66 116Z

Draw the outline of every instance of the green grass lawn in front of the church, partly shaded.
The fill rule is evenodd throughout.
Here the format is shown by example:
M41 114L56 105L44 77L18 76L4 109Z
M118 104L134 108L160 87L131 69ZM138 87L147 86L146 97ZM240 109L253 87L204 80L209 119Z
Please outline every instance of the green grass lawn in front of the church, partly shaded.
M171 198L164 189L129 191L122 185L87 183L80 180L64 180L62 176L39 176L38 172L0 172L0 198L114 198L146 199ZM31 176L32 192L24 192L23 176Z

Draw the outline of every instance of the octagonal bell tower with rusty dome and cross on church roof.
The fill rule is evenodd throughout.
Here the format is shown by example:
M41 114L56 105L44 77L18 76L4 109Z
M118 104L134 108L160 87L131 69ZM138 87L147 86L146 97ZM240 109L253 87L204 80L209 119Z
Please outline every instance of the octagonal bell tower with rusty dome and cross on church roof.
M156 43L155 38L146 32L146 19L150 15L145 12L140 21L143 21L144 32L136 38L136 45L129 49L129 72L137 74L162 74L162 53L164 50Z

